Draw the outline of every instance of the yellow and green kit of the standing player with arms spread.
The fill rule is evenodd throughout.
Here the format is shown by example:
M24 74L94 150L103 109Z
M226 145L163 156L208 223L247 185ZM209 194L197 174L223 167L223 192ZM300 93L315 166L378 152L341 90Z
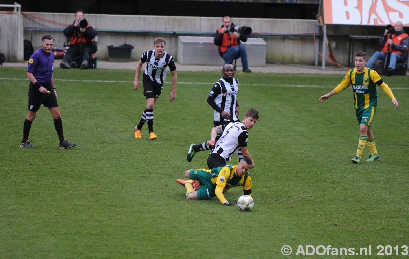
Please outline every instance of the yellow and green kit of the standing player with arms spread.
M354 104L356 117L359 124L364 124L371 126L372 120L376 113L376 105L378 102L378 95L376 93L376 85L379 85L380 88L393 100L395 97L391 89L385 84L379 74L370 69L365 68L363 72L358 72L356 68L348 71L347 75L344 77L344 80L334 89L335 93L339 93L344 89L352 85L352 90L354 93ZM361 157L365 144L367 144L371 153L377 154L375 147L375 140L368 139L368 136L361 135L359 137L358 149L356 156Z

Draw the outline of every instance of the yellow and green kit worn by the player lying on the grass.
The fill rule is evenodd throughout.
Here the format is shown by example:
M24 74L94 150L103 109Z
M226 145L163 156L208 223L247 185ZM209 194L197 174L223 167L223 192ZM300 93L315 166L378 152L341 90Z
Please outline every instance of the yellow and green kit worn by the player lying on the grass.
M242 186L244 194L252 196L252 178L248 172L243 176L237 176L236 167L237 165L226 165L212 170L190 170L189 177L200 182L197 199L204 200L217 196L221 203L225 203L227 200L223 193L236 186Z

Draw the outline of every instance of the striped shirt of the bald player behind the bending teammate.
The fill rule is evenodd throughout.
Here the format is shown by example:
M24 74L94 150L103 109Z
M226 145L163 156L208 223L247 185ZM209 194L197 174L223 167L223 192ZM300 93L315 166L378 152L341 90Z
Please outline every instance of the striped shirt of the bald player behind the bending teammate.
M217 109L215 109L214 111L214 121L221 121L225 123L239 121L239 118L236 114L239 81L236 78L232 78L231 81L232 82L228 82L224 77L221 78L219 81L217 81L217 83L213 85L213 88L209 93L208 98L213 99L216 105L220 107L220 109L214 107ZM223 116L221 116L222 111L232 114L232 120L224 119Z

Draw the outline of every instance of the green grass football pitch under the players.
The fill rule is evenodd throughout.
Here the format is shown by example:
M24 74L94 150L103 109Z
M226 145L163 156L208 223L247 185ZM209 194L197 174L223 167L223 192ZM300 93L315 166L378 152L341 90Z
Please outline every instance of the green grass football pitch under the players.
M134 71L56 69L64 135L77 146L58 149L52 116L41 107L30 133L37 149L24 149L26 68L0 68L0 257L286 258L284 245L291 258L303 257L296 256L300 245L305 252L307 245L331 245L356 253L371 245L372 257L378 245L391 246L381 252L407 257L407 76L383 78L397 110L378 88L372 128L380 159L365 161L366 147L365 159L352 164L359 139L352 90L318 102L343 76L237 74L240 117L251 107L260 112L249 131L256 164L250 212L217 197L187 200L175 183L187 169L206 168L207 152L191 163L186 152L210 136L206 99L220 77L178 72L169 102L169 73L154 110L158 139L151 141L147 125L142 139L133 137L146 105L133 90ZM226 198L235 202L242 193L233 188Z

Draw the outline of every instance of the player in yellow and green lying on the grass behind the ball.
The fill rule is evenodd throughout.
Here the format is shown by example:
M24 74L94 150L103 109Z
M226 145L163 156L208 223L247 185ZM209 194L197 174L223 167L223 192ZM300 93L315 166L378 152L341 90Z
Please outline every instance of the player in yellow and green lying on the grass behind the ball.
M226 165L216 167L212 170L192 169L185 171L185 177L198 180L201 186L198 190L192 187L192 180L177 179L186 188L186 198L196 200L206 200L217 196L225 206L232 206L224 197L226 191L232 187L242 186L245 195L252 196L252 178L248 174L248 169L252 160L243 158L237 165Z

